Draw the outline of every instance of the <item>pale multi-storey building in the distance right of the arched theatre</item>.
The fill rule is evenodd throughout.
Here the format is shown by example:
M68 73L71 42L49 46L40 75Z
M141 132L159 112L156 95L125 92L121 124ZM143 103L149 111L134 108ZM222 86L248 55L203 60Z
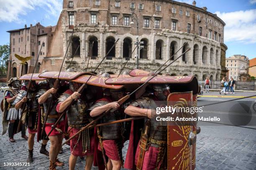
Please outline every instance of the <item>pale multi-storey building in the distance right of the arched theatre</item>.
M228 78L240 80L241 74L248 74L249 58L244 55L233 55L226 58L226 68L229 70Z

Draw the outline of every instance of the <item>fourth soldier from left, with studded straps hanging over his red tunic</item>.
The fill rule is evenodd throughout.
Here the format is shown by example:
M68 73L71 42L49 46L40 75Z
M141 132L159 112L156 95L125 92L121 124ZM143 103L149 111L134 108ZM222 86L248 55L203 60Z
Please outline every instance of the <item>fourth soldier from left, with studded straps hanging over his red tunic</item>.
M82 127L86 126L90 122L90 115L86 110L92 106L93 97L87 93L92 89L84 90L83 94L79 94L77 90L81 86L80 83L69 81L69 90L65 91L58 98L58 105L56 107L57 112L67 112L68 121L68 133L72 137ZM66 110L67 109L67 110ZM94 154L94 136L93 129L84 130L70 141L70 157L69 157L69 169L74 170L77 157L86 156L85 169L90 170L93 163Z

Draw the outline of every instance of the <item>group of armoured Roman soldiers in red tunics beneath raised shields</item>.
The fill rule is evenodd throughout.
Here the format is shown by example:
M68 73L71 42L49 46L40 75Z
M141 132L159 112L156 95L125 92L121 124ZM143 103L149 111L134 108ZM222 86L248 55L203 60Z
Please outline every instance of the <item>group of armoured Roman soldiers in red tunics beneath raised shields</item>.
M110 75L105 73L102 76ZM10 88L4 93L4 129L7 129L6 125L9 122L9 138L11 142L15 142L13 134L16 133L15 127L21 119L22 138L28 139L27 162L33 162L34 138L37 133L37 141L42 140L40 153L49 156L49 170L56 170L56 166L63 166L64 163L58 160L58 155L62 151L63 138L72 137L95 117L112 109L98 123L136 116L144 118L138 121L87 128L79 133L68 143L70 145L69 169L75 169L78 157L86 157L86 170L90 170L93 164L99 169L107 170L119 170L123 166L127 169L139 170L166 169L167 128L159 125L154 117L156 107L159 107L156 101L166 101L170 94L168 84L148 85L141 97L119 105L116 101L127 94L125 88L115 90L88 85L80 94L77 90L81 87L81 83L61 80L56 89L54 81L54 79L31 81L29 94L26 97L29 81L20 82L15 77L9 80ZM25 111L21 110L23 104L26 104ZM20 117L22 111L23 115ZM42 130L47 111L49 114L43 129L44 135L41 136L40 130ZM61 117L61 121L51 131L52 125L59 119L62 112L66 112L66 116ZM49 134L48 138L46 138L47 134ZM48 140L51 143L49 152L46 150ZM124 161L122 148L125 140L129 140L129 146Z

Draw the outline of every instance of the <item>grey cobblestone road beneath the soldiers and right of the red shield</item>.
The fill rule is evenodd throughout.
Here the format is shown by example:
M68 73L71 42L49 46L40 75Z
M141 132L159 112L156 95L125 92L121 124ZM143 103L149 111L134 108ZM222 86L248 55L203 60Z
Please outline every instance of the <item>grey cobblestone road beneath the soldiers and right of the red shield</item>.
M204 94L205 96L206 94ZM236 94L228 94L226 97L220 97L218 92L207 93L209 97L198 98L198 106L206 105L213 102L220 102L218 105L210 105L204 107L204 112L199 116L219 116L223 119L225 124L242 125L248 128L219 125L216 123L199 122L201 133L197 135L197 170L256 170L256 130L249 128L256 128L253 123L255 121L255 111L252 105L256 98L243 99L243 102L224 102L231 99L236 99L234 96L249 96L256 95L256 93L238 92ZM224 95L221 95L224 96ZM0 99L3 93L0 92ZM243 107L243 110L239 108ZM248 109L249 108L249 109ZM223 116L224 115L224 116ZM233 115L236 119L233 120ZM245 115L246 119L238 121ZM2 122L2 115L0 118ZM255 121L255 122L254 122ZM246 122L249 123L245 124ZM0 133L2 133L2 125L0 126ZM27 133L28 134L28 133ZM40 143L35 143L34 146L34 163L29 167L24 166L4 166L4 163L26 162L27 158L27 141L20 137L20 134L15 135L16 143L10 143L8 134L0 138L0 169L36 169L44 170L49 166L49 160L46 156L39 153ZM47 148L49 150L49 145ZM123 157L125 157L128 142L123 148ZM64 146L64 153L59 155L59 159L64 161L64 167L57 169L68 169L69 147ZM84 160L77 160L76 169L84 169ZM97 169L97 168L93 168Z

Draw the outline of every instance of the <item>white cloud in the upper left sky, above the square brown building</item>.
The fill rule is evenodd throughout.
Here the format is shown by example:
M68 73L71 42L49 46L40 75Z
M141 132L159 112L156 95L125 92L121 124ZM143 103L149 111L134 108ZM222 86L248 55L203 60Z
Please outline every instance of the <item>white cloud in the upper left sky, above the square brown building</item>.
M37 7L43 8L47 15L58 16L62 10L62 0L0 0L0 22L21 23L20 15L27 15Z

